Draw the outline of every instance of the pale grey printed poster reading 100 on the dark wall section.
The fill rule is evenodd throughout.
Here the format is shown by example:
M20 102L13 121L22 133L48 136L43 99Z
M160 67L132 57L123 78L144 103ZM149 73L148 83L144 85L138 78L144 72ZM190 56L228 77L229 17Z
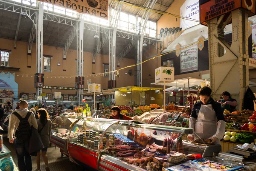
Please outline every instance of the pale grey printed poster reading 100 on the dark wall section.
M198 43L181 50L180 72L198 70Z

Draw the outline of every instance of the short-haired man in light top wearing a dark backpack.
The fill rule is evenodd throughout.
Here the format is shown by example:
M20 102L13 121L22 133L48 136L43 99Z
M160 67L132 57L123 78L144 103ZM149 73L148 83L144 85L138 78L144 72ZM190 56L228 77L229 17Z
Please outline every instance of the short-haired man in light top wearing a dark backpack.
M28 152L30 129L31 125L38 128L35 114L29 111L28 107L26 100L21 100L20 109L16 109L9 118L9 142L14 142L20 171L32 171L31 156Z

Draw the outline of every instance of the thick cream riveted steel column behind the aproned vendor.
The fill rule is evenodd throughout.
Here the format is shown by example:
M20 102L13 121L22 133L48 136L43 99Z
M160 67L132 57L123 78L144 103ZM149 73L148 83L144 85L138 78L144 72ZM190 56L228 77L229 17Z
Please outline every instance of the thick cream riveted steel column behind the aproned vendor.
M229 91L241 110L243 98L249 85L248 56L248 14L244 9L231 12L232 44L224 41L223 29L231 16L223 20L220 16L208 21L209 69L212 97L220 98L223 91ZM226 53L224 54L224 49Z

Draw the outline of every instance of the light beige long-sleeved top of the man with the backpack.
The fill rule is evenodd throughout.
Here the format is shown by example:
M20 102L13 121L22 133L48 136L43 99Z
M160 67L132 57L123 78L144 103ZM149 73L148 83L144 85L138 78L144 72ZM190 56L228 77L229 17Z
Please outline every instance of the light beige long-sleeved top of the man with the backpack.
M25 118L26 114L29 112L29 110L27 108L23 108L23 109L16 109L15 110L18 114L20 114L21 117ZM35 114L32 112L30 114L30 117L28 119L29 124L33 125L34 128L38 128L38 124L35 120ZM20 120L14 115L11 114L10 118L9 118L9 139L10 140L14 140L14 134L15 134L15 128L17 129L18 126L20 124ZM16 138L16 137L15 137Z

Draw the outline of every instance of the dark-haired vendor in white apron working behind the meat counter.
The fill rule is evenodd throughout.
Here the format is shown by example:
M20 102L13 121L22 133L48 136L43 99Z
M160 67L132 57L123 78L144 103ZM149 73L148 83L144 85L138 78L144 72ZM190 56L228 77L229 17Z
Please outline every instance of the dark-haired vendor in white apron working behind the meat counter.
M188 135L192 142L200 137L211 139L213 144L220 144L224 136L226 124L221 104L212 99L211 93L212 89L209 87L203 87L198 92L200 101L194 104L189 118L189 128L194 129L194 133Z

